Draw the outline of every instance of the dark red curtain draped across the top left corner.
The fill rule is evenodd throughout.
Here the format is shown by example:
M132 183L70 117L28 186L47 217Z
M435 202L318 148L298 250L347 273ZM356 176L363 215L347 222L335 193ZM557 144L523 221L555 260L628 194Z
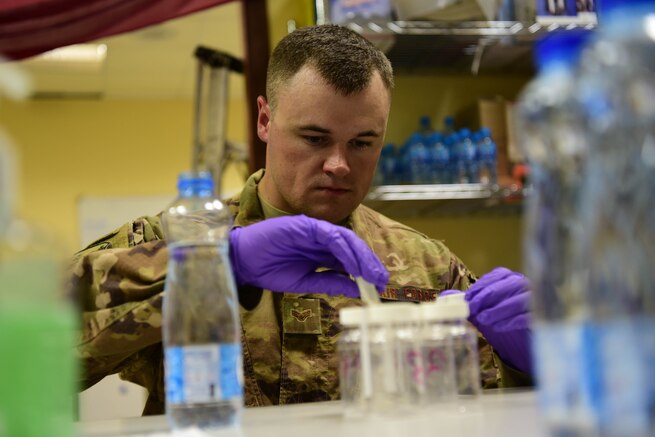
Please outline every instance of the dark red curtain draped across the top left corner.
M0 55L27 58L228 1L231 0L1 0Z

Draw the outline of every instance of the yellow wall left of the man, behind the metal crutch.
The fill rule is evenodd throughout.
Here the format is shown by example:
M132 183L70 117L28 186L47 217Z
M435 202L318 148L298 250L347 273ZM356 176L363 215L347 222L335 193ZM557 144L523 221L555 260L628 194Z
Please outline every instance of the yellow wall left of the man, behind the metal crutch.
M244 102L231 102L228 138L245 141ZM81 196L175 194L191 159L189 101L3 101L0 125L21 160L20 211L80 247ZM235 188L227 178L226 189Z

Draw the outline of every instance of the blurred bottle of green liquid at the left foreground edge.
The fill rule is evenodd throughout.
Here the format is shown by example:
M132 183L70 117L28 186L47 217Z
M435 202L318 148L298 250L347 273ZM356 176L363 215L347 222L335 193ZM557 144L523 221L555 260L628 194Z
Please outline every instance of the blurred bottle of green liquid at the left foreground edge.
M76 316L59 244L15 213L15 164L0 131L0 435L74 434Z

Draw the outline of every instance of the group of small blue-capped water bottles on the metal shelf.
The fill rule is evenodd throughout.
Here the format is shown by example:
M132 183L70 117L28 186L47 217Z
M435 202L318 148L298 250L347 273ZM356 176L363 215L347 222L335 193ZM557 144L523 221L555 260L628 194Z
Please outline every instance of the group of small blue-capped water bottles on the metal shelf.
M491 130L455 129L444 119L444 129L432 128L422 116L419 129L401 146L383 147L375 175L376 185L496 183L496 144Z

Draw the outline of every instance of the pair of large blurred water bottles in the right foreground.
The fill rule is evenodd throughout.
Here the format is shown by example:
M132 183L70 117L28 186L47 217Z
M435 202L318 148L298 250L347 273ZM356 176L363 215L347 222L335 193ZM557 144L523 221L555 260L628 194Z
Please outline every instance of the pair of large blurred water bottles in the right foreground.
M605 0L598 13L579 68L567 52L581 42L551 44L521 98L535 361L553 434L645 437L655 435L655 0Z

